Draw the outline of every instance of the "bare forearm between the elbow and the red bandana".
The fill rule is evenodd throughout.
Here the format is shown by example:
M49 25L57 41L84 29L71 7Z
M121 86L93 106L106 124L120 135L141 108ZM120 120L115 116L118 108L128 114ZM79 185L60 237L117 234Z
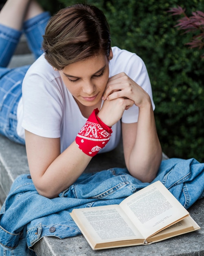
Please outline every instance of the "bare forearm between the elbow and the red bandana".
M38 193L47 198L57 197L77 180L91 159L74 141L47 168L44 166L44 172L34 174L37 166L32 164L31 176Z

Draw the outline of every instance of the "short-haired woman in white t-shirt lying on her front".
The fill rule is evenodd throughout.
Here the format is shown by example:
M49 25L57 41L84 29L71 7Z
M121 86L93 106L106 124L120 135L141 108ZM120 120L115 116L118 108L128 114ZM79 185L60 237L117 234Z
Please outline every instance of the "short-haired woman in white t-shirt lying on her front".
M9 4L15 14L7 9ZM96 7L76 4L61 9L44 32L48 14L37 6L33 0L8 0L0 13L1 34L9 33L8 27L20 34L27 23L31 41L39 42L38 50L44 34L44 54L28 71L27 67L5 68L13 53L10 35L4 39L7 46L0 47L6 56L0 61L0 127L10 139L25 141L38 193L57 197L77 180L94 155L114 149L121 135L129 173L151 182L162 150L143 61L136 54L111 48L107 21ZM9 20L9 15L18 16L18 22ZM12 101L9 108L7 101Z

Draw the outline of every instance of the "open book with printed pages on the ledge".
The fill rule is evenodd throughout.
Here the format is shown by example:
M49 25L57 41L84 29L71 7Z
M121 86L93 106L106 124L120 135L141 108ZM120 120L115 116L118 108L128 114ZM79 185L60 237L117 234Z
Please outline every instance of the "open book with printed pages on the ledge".
M93 250L150 244L200 229L160 181L120 204L73 209L70 215Z

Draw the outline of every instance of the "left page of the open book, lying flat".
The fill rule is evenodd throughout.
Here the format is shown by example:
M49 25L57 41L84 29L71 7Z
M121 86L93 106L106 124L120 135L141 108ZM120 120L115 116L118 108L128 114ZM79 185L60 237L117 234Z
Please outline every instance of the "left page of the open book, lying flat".
M131 239L142 239L140 243L144 241L119 205L74 209L70 215L87 240L93 238L96 243Z

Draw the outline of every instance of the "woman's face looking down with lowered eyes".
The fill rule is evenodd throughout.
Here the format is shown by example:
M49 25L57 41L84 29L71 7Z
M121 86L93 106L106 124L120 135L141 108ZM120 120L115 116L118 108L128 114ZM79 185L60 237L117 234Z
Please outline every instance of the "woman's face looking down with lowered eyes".
M94 106L101 101L107 85L109 61L99 54L67 65L59 74L78 104Z

